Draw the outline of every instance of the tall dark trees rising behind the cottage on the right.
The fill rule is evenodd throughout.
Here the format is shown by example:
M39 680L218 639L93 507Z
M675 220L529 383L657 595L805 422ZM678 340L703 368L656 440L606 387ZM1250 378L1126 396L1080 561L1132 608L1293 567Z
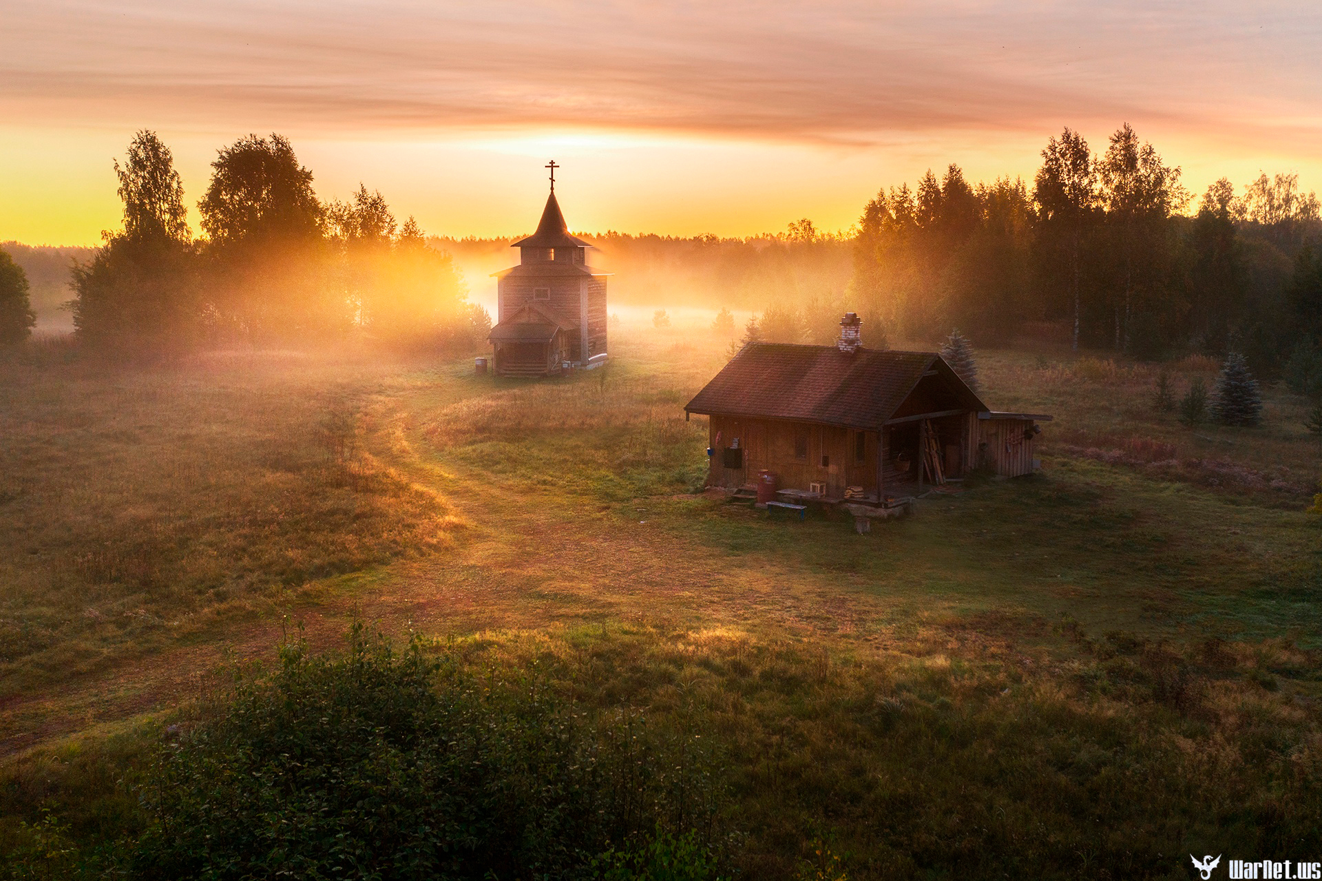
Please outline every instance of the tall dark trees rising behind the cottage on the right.
M871 315L908 339L958 325L995 341L1052 323L1075 348L1236 349L1268 376L1318 347L1322 222L1297 176L1243 192L1222 179L1187 216L1181 169L1128 124L1101 155L1066 128L1042 160L1031 187L951 165L883 188L854 246L847 299L865 328Z

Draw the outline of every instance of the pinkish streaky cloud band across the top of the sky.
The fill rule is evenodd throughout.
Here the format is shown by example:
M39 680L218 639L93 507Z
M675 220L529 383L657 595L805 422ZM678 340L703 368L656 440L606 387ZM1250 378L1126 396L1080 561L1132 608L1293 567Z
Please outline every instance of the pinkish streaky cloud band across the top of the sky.
M1314 3L9 7L0 107L29 122L842 143L1100 119L1322 134Z

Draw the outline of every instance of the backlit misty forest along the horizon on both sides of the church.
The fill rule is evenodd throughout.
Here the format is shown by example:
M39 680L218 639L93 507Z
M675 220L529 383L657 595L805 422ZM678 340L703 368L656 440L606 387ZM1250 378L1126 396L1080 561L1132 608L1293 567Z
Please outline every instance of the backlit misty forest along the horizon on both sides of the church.
M847 308L870 345L958 325L978 344L1029 336L1146 360L1237 351L1259 376L1322 388L1322 220L1296 175L1223 177L1195 198L1128 123L1100 152L1064 128L1040 157L1031 183L970 183L951 164L883 187L842 234L802 220L748 238L584 238L616 273L612 302L750 310L761 339L826 343ZM321 200L280 135L241 138L212 168L194 237L169 148L135 135L115 164L122 229L73 271L81 345L140 358L354 335L485 343L490 316L459 266L502 267L510 239L426 237L362 185Z

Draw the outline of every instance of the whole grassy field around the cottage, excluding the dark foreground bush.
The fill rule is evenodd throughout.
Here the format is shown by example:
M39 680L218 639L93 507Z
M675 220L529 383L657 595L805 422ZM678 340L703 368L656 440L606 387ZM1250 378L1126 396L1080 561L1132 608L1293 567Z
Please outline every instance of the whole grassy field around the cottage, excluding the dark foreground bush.
M541 384L293 353L5 364L4 841L42 807L75 841L132 828L120 780L227 657L361 618L710 732L747 877L1322 853L1302 401L1269 388L1264 427L1191 430L1151 406L1154 366L984 352L989 403L1056 417L1043 472L858 536L701 493L682 406L724 348L627 327L608 370ZM1215 372L1167 368L1177 393Z

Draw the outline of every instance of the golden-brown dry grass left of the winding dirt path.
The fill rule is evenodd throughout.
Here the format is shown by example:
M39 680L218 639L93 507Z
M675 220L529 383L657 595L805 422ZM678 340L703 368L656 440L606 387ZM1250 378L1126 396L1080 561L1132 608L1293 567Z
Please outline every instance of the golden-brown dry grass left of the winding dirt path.
M0 364L0 693L459 525L368 451L382 368Z

